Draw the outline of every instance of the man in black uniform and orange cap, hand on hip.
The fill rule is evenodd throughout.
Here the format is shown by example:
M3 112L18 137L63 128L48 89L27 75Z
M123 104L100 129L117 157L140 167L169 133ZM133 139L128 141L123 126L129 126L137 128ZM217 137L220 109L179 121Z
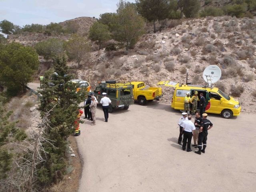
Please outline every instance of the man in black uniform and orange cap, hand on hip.
M196 154L201 154L205 153L205 148L206 148L206 141L207 141L207 135L208 135L208 130L210 130L213 126L212 122L207 119L207 113L202 114L203 120L200 125L199 129L199 135L198 135L198 151L195 151ZM202 149L203 146L203 149Z

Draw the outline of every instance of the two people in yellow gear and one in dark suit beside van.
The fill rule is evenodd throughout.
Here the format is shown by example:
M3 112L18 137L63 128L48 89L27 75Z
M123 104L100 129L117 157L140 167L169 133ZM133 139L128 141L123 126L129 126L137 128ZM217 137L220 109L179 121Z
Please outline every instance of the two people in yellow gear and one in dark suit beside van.
M186 113L195 115L198 101L199 101L200 114L202 117L202 114L205 111L206 100L203 93L200 93L200 99L199 99L198 91L195 91L194 95L191 98L190 98L190 92L186 93L186 96L184 97L184 110L186 111ZM191 105L191 108L190 108L190 105Z

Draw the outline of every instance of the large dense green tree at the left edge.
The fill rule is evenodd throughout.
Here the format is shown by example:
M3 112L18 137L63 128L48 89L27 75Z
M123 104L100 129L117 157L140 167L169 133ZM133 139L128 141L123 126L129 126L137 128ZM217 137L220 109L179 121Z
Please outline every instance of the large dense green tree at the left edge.
M9 95L26 91L25 86L33 80L38 66L38 54L34 49L14 42L0 46L0 84L7 87Z

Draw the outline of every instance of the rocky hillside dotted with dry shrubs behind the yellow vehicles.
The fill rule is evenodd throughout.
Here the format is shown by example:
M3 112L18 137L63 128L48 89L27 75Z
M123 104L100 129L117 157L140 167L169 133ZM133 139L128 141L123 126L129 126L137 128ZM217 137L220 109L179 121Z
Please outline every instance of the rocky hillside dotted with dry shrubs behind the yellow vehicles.
M205 84L202 72L218 65L222 78L215 86L238 98L242 109L256 105L256 18L229 16L184 20L175 28L146 34L130 52L92 52L90 61L77 70L79 78L94 85L98 80L160 80ZM162 102L170 103L172 88L163 87Z

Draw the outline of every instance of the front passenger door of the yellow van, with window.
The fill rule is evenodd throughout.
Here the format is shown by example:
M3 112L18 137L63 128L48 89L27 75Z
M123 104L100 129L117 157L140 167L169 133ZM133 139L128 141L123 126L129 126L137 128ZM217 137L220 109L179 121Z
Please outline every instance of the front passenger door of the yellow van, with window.
M207 110L207 112L220 114L224 109L224 104L225 104L222 96L220 96L216 92L209 92L209 97L210 97L210 108ZM223 101L221 101L221 99Z

